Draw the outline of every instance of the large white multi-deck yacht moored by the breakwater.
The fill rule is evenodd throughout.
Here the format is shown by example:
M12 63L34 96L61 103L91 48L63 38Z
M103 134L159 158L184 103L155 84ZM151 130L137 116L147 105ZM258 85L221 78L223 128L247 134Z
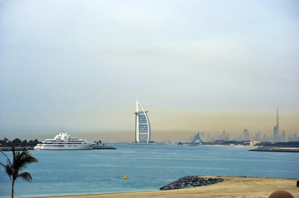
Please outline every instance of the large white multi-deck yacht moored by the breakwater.
M45 139L41 144L37 144L34 150L85 150L90 149L95 143L88 142L86 139L78 139L71 137L67 133L61 131L54 139Z

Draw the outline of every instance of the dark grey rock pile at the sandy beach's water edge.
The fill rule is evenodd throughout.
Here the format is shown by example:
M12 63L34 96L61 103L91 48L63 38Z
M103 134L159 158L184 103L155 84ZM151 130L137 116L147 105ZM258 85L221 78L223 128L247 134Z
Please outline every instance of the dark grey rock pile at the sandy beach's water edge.
M199 186L208 186L212 184L217 184L225 181L225 179L220 178L205 178L198 176L186 176L182 177L166 186L160 188L160 190L173 190L173 189L184 189L191 187L199 187Z

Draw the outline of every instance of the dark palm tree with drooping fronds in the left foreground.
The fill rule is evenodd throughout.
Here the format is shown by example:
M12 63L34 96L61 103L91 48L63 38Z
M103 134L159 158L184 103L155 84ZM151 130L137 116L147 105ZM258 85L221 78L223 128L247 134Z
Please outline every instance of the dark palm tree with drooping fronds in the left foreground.
M0 152L3 153L2 151L0 151ZM13 186L14 186L14 182L17 178L22 178L23 180L25 180L27 182L32 181L32 177L29 173L24 172L24 173L19 174L19 171L22 171L23 169L25 169L27 167L27 165L30 163L38 162L38 160L35 159L34 157L32 157L31 153L27 150L24 150L21 153L19 151L15 152L14 144L12 145L12 155L13 155L12 163L9 160L9 158L7 157L7 155L5 155L5 157L7 158L7 164L4 165L4 164L0 163L0 165L2 165L5 168L5 172L9 176L10 180L12 178L11 198L13 198Z

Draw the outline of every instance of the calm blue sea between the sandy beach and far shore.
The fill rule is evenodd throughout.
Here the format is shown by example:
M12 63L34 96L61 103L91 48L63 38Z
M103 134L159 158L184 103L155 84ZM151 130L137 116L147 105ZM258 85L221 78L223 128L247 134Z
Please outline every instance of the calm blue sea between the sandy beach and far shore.
M187 175L299 178L299 153L227 146L109 145L118 150L32 150L39 162L25 171L33 182L17 180L15 197L157 191ZM6 164L1 153L0 162ZM0 197L10 193L11 182L0 168Z

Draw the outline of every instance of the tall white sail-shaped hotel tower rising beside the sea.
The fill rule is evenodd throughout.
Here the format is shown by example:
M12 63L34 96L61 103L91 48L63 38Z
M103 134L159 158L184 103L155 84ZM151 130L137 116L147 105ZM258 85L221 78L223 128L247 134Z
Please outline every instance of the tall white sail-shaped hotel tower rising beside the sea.
M135 143L149 143L150 133L148 111L145 111L136 99Z

